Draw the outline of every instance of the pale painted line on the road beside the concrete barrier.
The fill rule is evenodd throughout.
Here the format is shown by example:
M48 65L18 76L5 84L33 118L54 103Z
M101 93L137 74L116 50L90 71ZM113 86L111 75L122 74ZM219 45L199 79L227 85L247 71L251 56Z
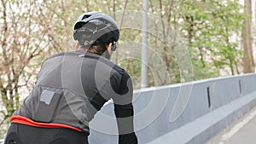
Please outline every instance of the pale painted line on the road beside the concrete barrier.
M229 141L233 135L241 130L241 128L249 123L254 117L256 116L256 109L253 112L250 112L246 118L244 118L241 122L236 124L230 131L227 131L224 135L221 136L221 141L218 144L224 144L225 142Z

